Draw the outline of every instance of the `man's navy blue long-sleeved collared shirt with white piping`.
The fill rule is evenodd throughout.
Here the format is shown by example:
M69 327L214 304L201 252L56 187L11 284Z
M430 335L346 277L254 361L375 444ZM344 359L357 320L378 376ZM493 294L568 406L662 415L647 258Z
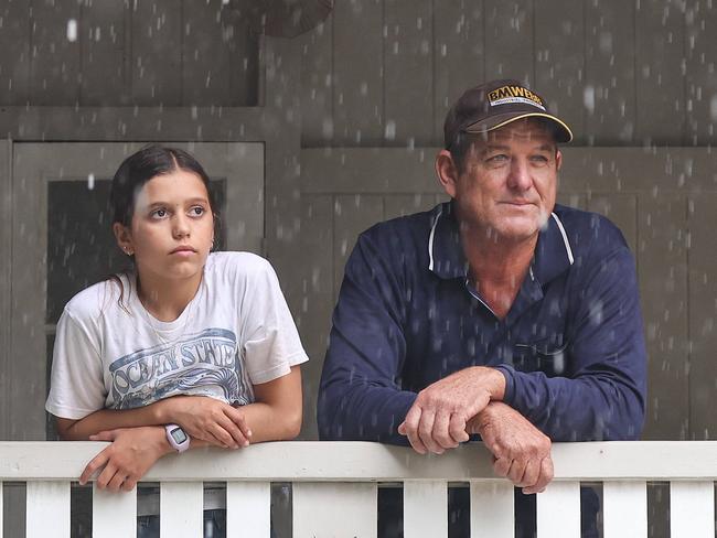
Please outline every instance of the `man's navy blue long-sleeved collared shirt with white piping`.
M406 444L428 385L482 365L553 441L635 439L645 346L632 255L607 218L556 206L507 315L467 279L450 202L364 232L346 262L319 390L327 440Z

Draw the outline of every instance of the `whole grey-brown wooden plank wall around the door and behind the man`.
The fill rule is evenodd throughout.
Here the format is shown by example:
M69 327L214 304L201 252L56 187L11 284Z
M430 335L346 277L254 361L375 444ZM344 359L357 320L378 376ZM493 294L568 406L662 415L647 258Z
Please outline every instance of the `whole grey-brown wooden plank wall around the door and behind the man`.
M12 140L0 146L3 204L15 142L264 141L266 254L312 359L312 438L330 315L357 233L440 200L431 162L448 106L465 87L516 77L576 132L564 201L614 218L636 254L646 437L717 435L713 0L335 0L295 40L257 40L223 9L0 0L0 137ZM0 366L17 359L0 352Z

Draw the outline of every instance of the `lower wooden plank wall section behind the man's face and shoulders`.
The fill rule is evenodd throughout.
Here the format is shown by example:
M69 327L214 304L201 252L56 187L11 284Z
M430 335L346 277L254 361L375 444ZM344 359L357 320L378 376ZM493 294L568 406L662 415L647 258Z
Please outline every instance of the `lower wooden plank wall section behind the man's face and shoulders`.
M432 168L438 149L302 150L302 200L334 207L331 220L322 227L314 218L308 232L333 237L325 239L333 245L331 259L311 260L314 271L333 276L334 300L360 232L446 198ZM714 439L717 157L702 149L567 147L563 152L559 202L608 216L635 255L649 352L643 437ZM325 293L313 308L333 308L317 300L329 300Z

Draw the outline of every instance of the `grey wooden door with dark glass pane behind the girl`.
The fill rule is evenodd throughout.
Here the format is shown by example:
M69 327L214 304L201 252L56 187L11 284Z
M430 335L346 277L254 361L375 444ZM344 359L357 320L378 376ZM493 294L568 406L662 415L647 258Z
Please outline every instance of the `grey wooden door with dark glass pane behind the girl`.
M3 233L3 237L10 233L11 261L1 439L45 439L44 400L55 323L74 293L122 269L106 200L117 166L141 146L12 144L12 216L6 216L11 226ZM223 247L261 254L264 144L171 146L188 149L212 177L223 213Z

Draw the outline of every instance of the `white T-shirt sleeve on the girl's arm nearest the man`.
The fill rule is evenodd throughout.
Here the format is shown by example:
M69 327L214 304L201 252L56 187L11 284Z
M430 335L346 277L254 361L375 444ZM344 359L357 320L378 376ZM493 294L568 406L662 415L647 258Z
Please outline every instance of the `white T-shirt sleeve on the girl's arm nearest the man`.
M286 376L291 366L309 359L274 268L267 260L258 260L247 282L240 330L247 373L254 385Z

